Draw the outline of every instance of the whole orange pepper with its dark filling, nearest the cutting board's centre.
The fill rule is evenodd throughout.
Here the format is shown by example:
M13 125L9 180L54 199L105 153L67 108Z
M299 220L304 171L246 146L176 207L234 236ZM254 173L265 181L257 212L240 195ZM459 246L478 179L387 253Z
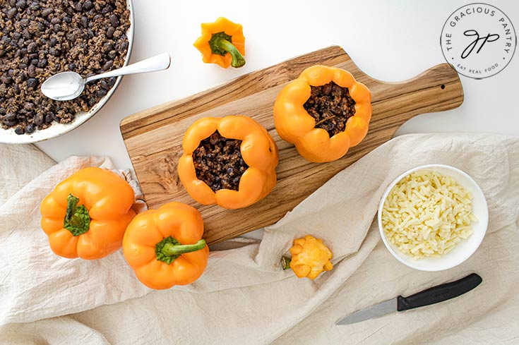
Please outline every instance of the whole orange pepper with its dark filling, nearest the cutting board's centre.
M199 119L184 134L182 149L180 180L203 205L246 207L275 185L278 146L250 117Z

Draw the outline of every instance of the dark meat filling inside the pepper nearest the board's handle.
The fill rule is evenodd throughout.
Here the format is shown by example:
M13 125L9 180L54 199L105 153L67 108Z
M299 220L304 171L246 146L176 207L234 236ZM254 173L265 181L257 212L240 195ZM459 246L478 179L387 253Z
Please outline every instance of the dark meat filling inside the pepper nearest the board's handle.
M310 98L304 109L316 120L316 128L323 128L330 138L346 129L346 121L355 114L355 101L347 87L330 82L311 86Z

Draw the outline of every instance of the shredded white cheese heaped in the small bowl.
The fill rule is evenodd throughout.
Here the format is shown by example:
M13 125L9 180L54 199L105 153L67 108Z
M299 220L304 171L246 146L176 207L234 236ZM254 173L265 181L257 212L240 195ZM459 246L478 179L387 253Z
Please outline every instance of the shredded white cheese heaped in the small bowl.
M382 209L386 238L414 259L440 257L472 234L472 195L452 176L420 170L402 178Z

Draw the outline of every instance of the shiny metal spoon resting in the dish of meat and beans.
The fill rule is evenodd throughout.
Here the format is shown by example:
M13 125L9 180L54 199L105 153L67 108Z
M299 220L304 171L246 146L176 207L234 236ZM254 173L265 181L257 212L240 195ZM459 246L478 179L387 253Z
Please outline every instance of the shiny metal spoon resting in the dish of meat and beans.
M162 53L149 59L132 63L114 71L93 75L86 79L81 78L76 72L61 72L48 78L42 84L42 94L56 99L56 101L68 101L81 95L85 84L101 78L117 77L119 75L147 73L167 69L171 63L169 53Z

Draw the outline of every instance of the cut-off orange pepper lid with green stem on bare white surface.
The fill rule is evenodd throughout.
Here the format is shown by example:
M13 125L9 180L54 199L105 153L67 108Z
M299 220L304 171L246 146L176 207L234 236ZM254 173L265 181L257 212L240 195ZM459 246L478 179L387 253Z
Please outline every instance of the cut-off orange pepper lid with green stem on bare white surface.
M203 23L202 35L193 44L202 53L205 63L223 68L245 64L245 37L241 25L220 17L215 23Z

